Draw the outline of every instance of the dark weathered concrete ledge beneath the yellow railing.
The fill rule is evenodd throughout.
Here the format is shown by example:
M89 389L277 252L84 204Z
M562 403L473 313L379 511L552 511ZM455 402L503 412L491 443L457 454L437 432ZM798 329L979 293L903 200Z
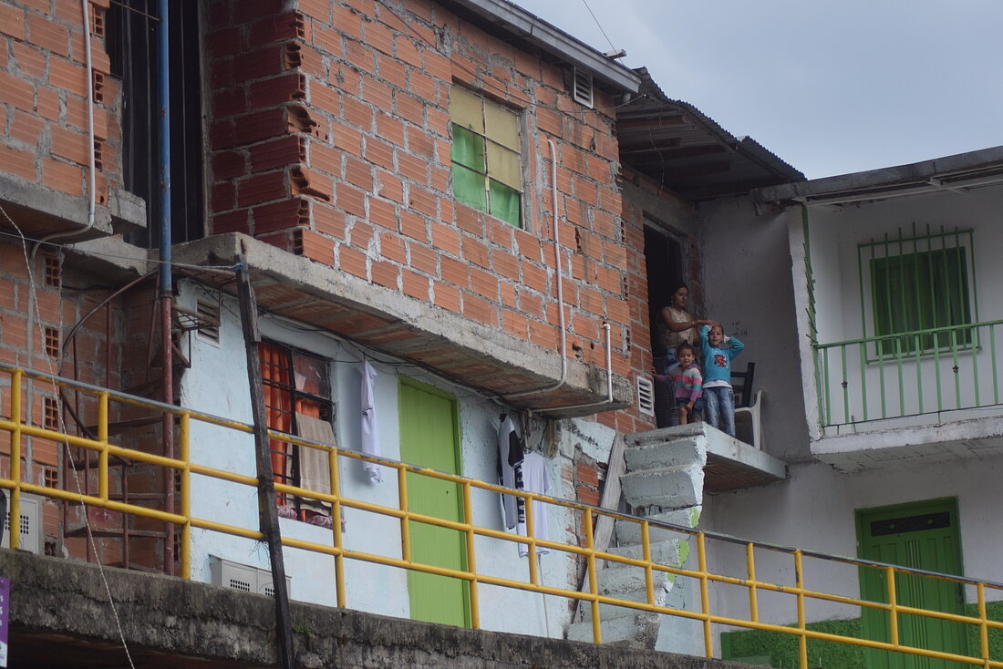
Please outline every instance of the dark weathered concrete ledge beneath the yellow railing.
M95 565L0 550L0 574L11 580L9 666L126 666ZM218 668L277 666L271 598L134 571L104 568L104 574L135 666L177 669L209 666L207 662ZM304 669L742 666L295 602L292 617L297 666Z

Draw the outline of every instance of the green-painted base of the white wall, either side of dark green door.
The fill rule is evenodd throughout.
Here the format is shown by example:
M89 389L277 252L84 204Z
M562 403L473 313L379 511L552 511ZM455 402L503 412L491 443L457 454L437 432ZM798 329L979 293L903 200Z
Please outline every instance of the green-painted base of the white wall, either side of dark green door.
M977 616L978 607L974 604L965 605L965 615ZM990 620L1003 622L1003 602L988 603L986 616ZM977 625L965 627L968 632L969 655L978 657L981 652L979 628ZM807 628L848 637L861 636L859 618L808 623ZM721 658L774 669L797 669L797 637L760 630L725 632L721 634ZM1003 660L1003 630L989 630L989 658ZM864 649L859 646L808 639L808 666L811 669L863 669L867 664Z

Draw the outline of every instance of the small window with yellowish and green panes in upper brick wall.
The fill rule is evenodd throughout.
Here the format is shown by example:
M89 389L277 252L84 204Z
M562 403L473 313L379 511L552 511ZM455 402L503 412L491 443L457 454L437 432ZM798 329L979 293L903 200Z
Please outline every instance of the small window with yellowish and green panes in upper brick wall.
M523 227L519 114L465 88L449 92L452 193L459 202Z

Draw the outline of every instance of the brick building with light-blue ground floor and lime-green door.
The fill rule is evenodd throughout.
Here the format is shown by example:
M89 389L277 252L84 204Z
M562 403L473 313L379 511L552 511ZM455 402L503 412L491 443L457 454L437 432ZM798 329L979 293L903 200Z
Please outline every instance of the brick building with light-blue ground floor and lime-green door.
M702 309L701 203L800 179L504 0L10 0L0 46L0 361L249 421L240 258L270 427L323 423L359 450L371 363L382 455L495 481L498 414L525 416L551 493L590 505L617 435L656 426L652 318L668 283L687 278ZM39 382L26 397L28 422L96 434L80 393ZM410 434L436 411L448 452L426 460ZM178 453L173 418L121 406L111 419L121 444ZM193 458L254 475L246 435L203 436ZM277 480L303 483L306 456L278 450ZM99 463L52 435L19 461L36 485L100 486ZM174 509L173 473L115 462L105 498ZM392 481L356 465L342 465L346 490L385 497ZM193 514L246 507L192 485ZM280 497L284 533L310 539L323 511L294 496ZM52 555L175 573L187 550L171 524L39 505ZM375 550L383 529L355 511L348 541ZM254 526L240 512L231 522ZM551 523L577 544L581 519ZM213 581L214 561L267 564L247 539L191 542L194 579ZM546 567L579 581L573 555ZM293 597L334 603L326 569L291 558ZM365 600L373 583L379 602ZM402 570L363 570L348 605L420 617L415 588ZM541 633L571 616L498 609L482 624Z

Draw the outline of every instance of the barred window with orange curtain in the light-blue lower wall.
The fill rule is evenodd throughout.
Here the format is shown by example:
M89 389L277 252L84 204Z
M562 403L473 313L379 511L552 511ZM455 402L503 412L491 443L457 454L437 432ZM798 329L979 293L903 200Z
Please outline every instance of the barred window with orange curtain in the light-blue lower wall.
M259 345L258 359L261 363L268 427L320 440L315 438L316 431L312 428L316 423L326 422L330 426L333 418L327 361L274 342ZM278 439L271 439L270 448L275 482L301 485L304 484L304 479L308 482L316 480L319 472L316 471L314 456L321 451L301 448ZM303 453L303 450L311 452ZM314 484L307 486L317 489ZM312 500L294 498L283 492L278 492L276 496L280 508L293 512L290 514L287 511L287 517L295 515L306 521L323 513ZM307 504L308 501L311 503Z

